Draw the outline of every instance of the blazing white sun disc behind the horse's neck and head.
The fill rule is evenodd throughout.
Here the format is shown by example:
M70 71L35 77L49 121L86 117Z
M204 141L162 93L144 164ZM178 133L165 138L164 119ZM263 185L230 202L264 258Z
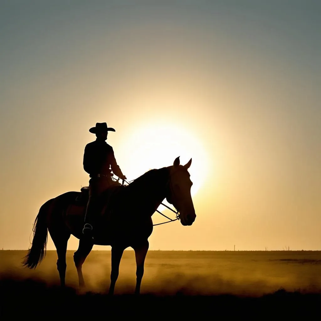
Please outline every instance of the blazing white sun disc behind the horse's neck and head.
M127 178L131 180L150 169L170 166L178 156L181 165L192 158L188 171L193 182L191 194L195 195L207 173L207 157L195 133L168 121L138 127L119 149Z

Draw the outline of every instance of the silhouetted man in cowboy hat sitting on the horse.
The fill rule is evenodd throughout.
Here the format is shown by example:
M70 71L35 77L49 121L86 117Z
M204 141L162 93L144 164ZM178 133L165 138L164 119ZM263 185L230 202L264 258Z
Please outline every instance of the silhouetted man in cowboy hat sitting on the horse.
M85 214L85 225L82 233L92 237L92 221L96 214L96 204L99 196L108 187L114 184L113 171L121 179L126 179L117 165L113 148L105 141L108 131L115 132L114 128L108 128L106 123L96 123L89 131L96 134L96 140L88 143L83 155L83 168L89 174L89 200Z

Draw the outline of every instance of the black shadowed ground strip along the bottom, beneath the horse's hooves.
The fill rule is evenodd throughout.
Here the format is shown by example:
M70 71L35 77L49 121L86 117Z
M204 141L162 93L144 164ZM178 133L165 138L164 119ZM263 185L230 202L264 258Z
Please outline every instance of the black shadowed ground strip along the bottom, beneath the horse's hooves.
M56 319L58 317L117 317L139 319L216 319L246 317L247 319L318 319L321 294L276 291L262 297L235 295L170 296L142 294L115 295L87 292L77 294L73 288L60 289L34 280L2 279L1 318L24 317L25 320Z

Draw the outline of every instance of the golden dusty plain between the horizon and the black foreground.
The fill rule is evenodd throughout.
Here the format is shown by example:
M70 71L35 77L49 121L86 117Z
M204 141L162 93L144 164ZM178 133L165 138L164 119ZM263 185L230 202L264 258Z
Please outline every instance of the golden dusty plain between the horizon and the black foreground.
M83 265L86 289L78 289L73 262L67 251L66 285L78 293L106 293L110 283L110 251L92 251ZM47 251L35 269L22 267L27 251L0 251L0 279L34 280L59 285L57 255ZM134 293L134 251L125 251L115 294ZM258 297L280 289L321 293L320 251L207 252L149 251L145 261L142 294L221 295Z

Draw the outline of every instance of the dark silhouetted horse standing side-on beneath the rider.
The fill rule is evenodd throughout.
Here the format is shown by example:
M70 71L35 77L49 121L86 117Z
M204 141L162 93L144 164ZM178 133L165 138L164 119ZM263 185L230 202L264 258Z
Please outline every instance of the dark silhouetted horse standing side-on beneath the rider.
M109 187L101 196L100 211L94 225L93 239L84 238L82 227L87 199L77 204L81 192L66 192L44 203L33 224L33 239L22 264L36 268L46 255L48 231L57 251L57 270L60 284L65 287L66 250L70 235L79 239L74 252L79 286L84 287L82 264L94 244L111 246L111 274L109 294L114 293L119 264L124 250L132 247L136 260L135 294L140 293L145 257L152 234L152 215L166 198L178 213L183 226L190 226L196 218L191 197L192 181L188 168L192 163L180 165L177 157L173 165L151 169L125 186ZM120 184L119 184L120 185Z

